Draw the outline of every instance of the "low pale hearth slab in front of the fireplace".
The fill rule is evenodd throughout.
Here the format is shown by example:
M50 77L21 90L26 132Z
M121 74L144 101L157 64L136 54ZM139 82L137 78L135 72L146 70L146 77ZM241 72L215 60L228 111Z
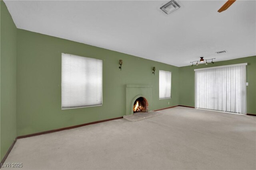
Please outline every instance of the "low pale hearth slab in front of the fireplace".
M125 115L123 117L124 119L129 121L140 121L140 120L149 119L151 117L160 116L160 115L162 115L161 112L149 111L149 112L137 112L137 113L133 113L133 115L128 115L128 116Z

